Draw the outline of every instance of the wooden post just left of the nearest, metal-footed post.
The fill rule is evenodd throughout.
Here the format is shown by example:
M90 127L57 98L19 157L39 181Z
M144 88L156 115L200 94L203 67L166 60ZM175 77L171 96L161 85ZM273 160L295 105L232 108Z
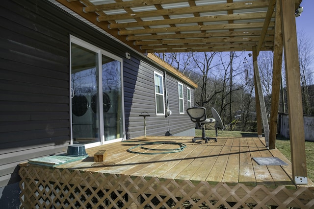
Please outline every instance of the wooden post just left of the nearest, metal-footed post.
M275 39L274 39L274 65L273 65L273 81L271 89L271 107L269 120L269 149L276 147L278 107L281 84L281 67L283 59L283 38L280 19L280 3L276 1L275 16Z

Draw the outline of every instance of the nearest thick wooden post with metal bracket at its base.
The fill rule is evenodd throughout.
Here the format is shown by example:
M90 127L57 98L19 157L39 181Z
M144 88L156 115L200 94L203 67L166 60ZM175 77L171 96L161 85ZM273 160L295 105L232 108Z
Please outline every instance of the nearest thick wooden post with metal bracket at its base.
M300 183L300 179L303 180L302 184L307 184L304 121L294 0L280 0L280 7L286 63L292 177L296 184Z

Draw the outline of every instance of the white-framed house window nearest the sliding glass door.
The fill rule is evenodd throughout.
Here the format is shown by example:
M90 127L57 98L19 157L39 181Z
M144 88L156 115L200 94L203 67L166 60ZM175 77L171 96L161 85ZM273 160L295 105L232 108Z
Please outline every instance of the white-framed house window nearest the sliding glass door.
M163 94L163 76L157 72L154 72L155 77L155 101L156 101L156 115L165 115L164 108L164 94Z

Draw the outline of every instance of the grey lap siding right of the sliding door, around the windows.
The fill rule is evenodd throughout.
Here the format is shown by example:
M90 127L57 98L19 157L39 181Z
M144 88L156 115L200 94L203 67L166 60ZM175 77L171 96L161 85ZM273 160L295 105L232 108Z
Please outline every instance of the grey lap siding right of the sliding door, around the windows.
M164 82L166 80L166 87L169 92L169 109L172 111L172 115L168 117L156 116L154 71L160 74L163 74L163 71L148 63L142 62L139 64L127 62L124 67L125 71L127 71L124 74L126 111L131 112L126 118L126 127L130 138L144 135L144 118L139 116L142 112L148 112L150 115L146 117L147 135L164 136L167 131L171 131L171 134L177 134L195 127L185 110L185 114L179 114L178 80L174 78L173 75L167 73L164 77ZM128 69L126 70L126 68ZM128 72L134 71L133 69L138 69L137 77L132 77ZM131 82L130 78L135 78L136 80L132 80ZM180 82L183 83L185 108L187 106L187 86L183 81ZM135 87L135 89L131 87ZM193 89L191 87L190 89L191 94L193 94ZM170 130L168 128L169 124Z

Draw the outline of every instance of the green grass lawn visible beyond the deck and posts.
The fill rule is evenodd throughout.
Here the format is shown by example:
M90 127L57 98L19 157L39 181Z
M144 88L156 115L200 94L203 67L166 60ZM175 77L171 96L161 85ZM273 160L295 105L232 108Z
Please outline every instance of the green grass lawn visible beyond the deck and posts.
M202 136L202 130L195 130L197 137ZM206 130L206 136L214 137L214 130ZM257 137L257 133L240 131L218 131L218 137ZM289 139L277 137L276 148L291 162L290 141ZM314 181L314 142L305 142L305 153L308 178Z

